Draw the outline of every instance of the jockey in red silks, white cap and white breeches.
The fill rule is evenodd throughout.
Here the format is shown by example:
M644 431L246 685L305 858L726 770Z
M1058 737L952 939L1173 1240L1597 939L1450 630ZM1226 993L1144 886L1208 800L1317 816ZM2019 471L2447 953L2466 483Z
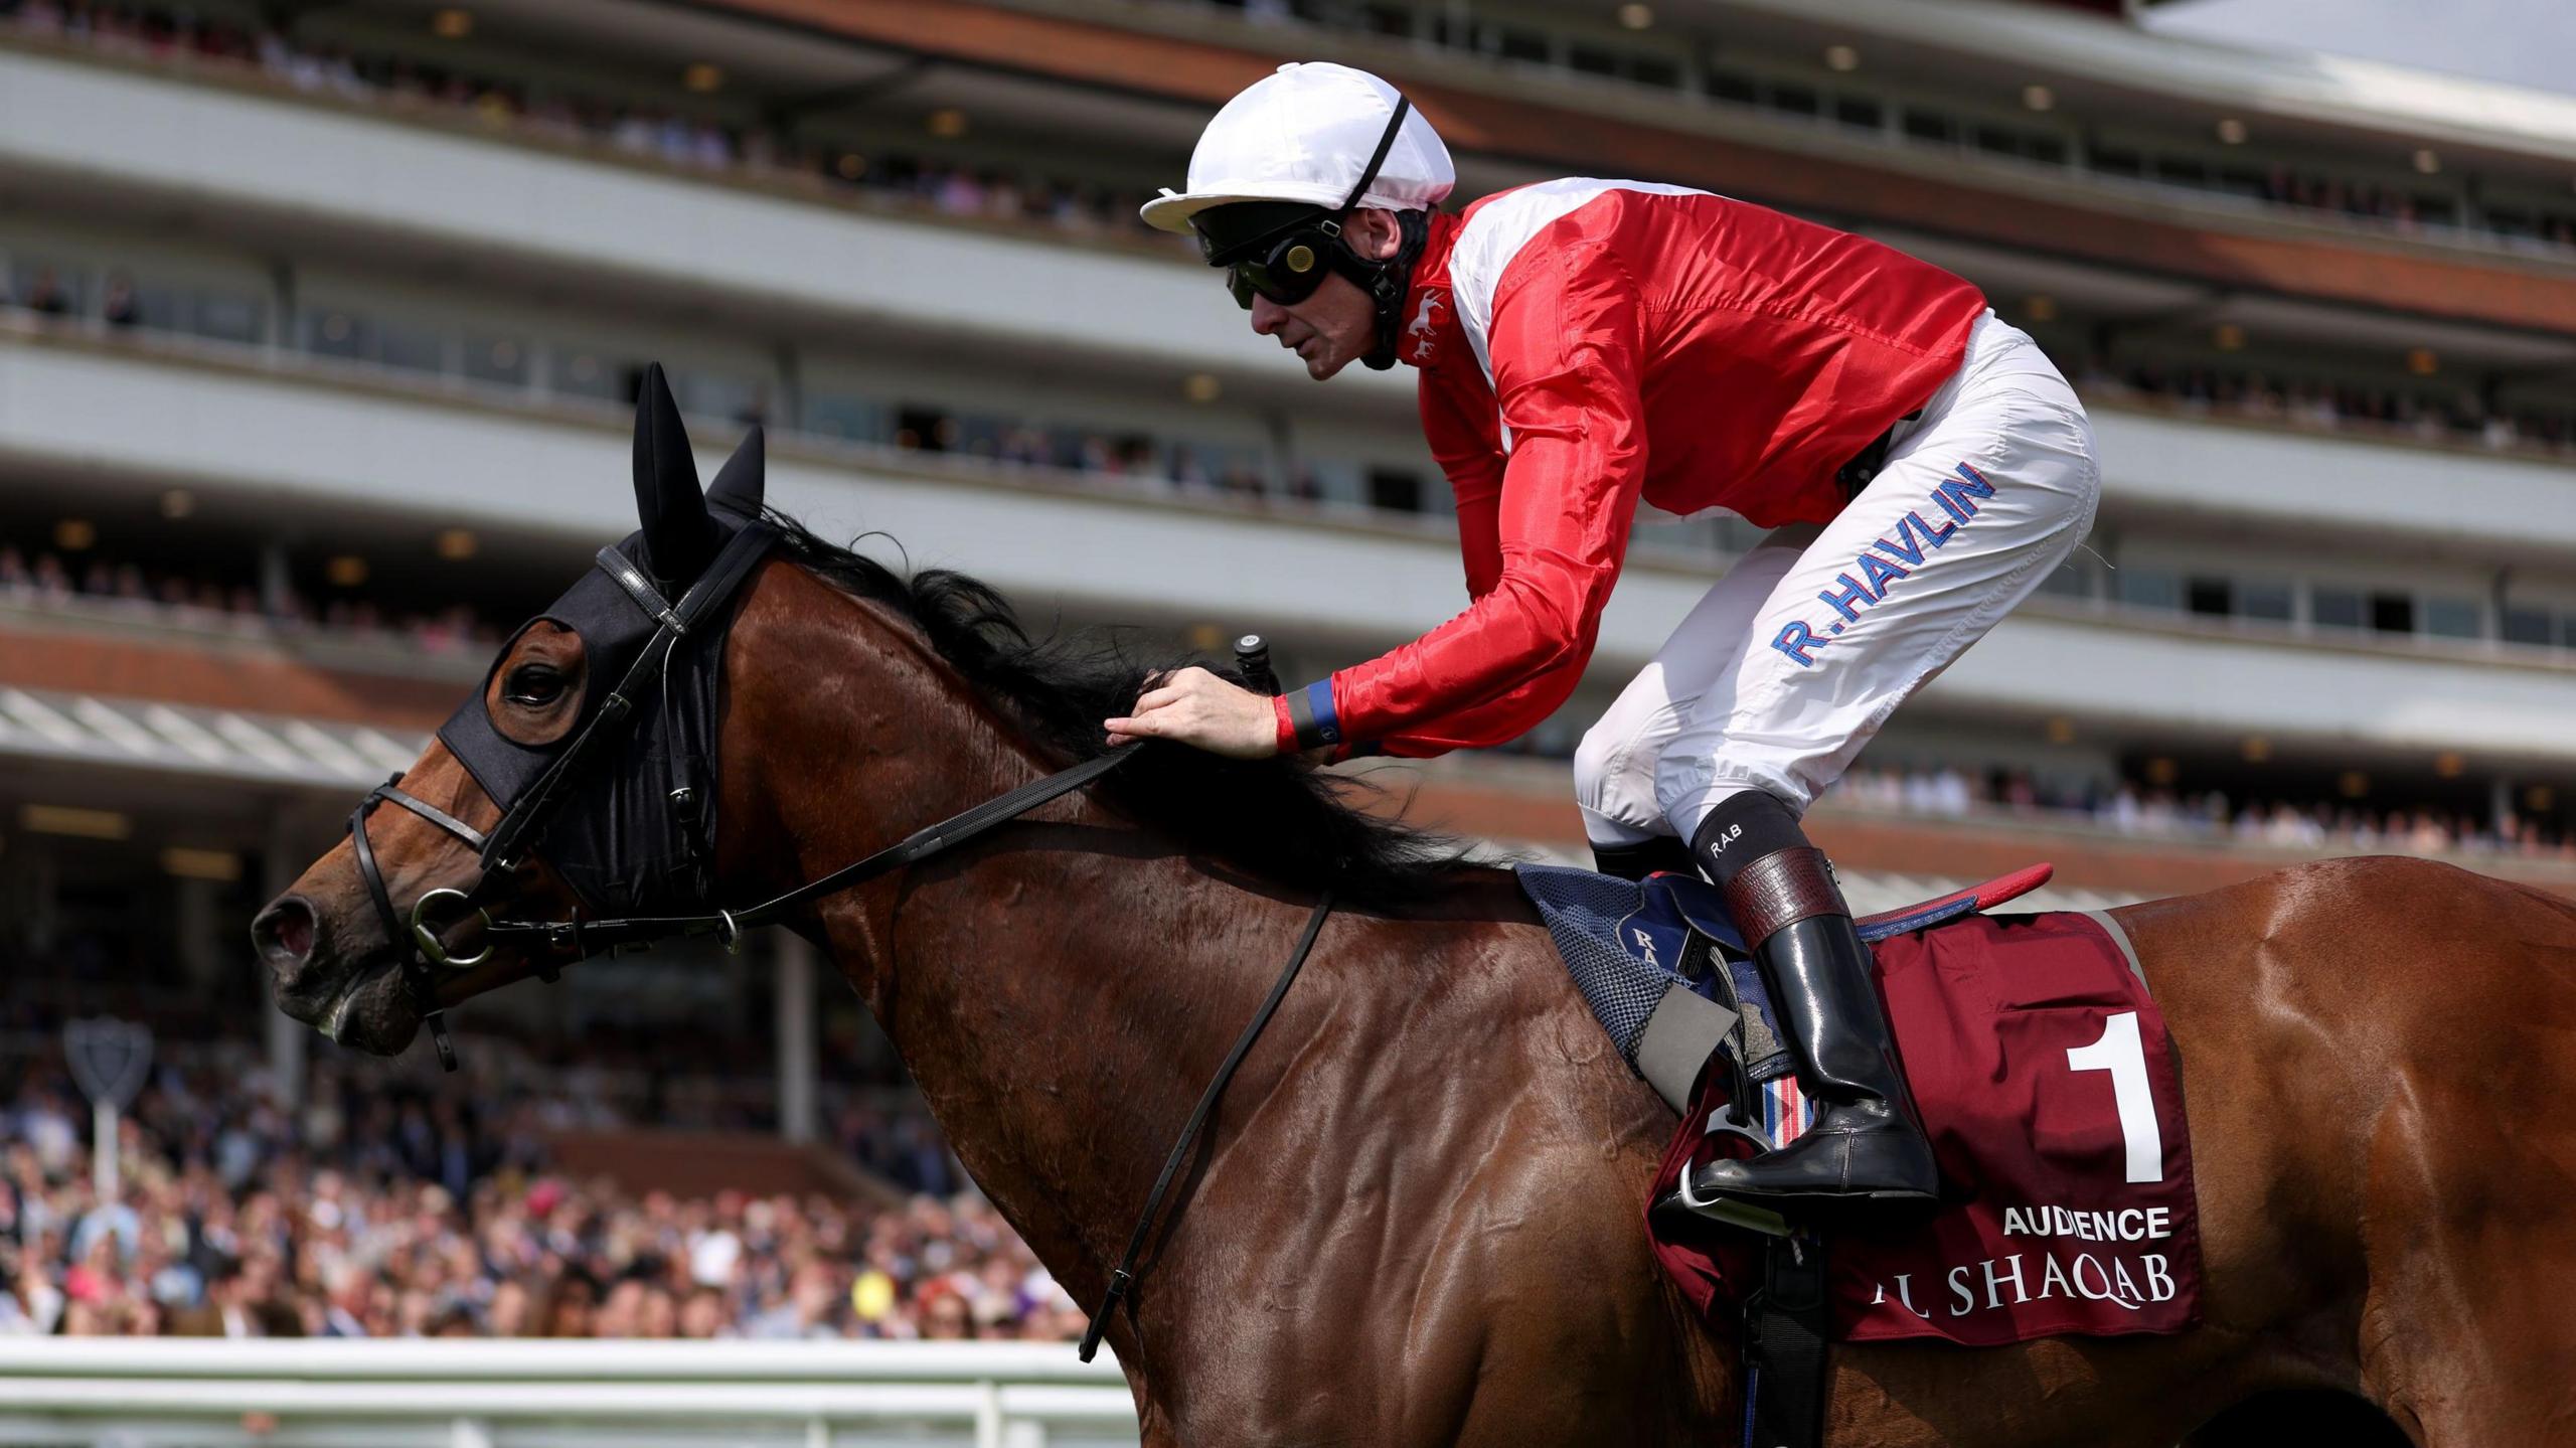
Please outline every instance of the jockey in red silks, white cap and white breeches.
M1641 500L1770 528L1584 734L1574 788L1602 871L1723 891L1816 1103L1806 1136L1685 1196L1932 1196L1870 953L1798 819L2087 533L2084 407L1971 283L1878 242L1643 180L1445 214L1453 183L1396 88L1285 64L1144 206L1316 381L1419 371L1471 603L1280 698L1182 670L1108 732L1242 757L1502 745L1574 693Z

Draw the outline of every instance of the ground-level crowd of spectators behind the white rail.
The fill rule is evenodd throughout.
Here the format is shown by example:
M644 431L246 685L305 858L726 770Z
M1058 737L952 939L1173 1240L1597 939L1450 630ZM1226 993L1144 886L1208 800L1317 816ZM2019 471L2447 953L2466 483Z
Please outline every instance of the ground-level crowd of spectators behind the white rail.
M247 1046L162 1064L113 1201L41 1054L0 1113L0 1332L304 1337L1074 1337L976 1196L618 1190L546 1167L595 1108L322 1062L283 1108Z

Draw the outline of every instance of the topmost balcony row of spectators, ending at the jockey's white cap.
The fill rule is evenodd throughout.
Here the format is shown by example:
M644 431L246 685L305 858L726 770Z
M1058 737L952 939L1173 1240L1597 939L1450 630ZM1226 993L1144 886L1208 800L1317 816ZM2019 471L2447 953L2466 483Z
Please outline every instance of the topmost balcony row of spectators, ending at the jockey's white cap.
M963 165L933 155L868 155L793 129L729 124L708 113L608 100L513 77L474 75L420 57L363 54L312 44L273 26L234 26L162 5L90 0L0 0L21 31L85 41L103 52L185 57L196 64L255 70L309 95L363 106L446 108L479 124L510 126L559 144L595 144L696 170L863 193L940 216L1046 224L1069 234L1128 234L1167 242L1139 222L1144 188Z

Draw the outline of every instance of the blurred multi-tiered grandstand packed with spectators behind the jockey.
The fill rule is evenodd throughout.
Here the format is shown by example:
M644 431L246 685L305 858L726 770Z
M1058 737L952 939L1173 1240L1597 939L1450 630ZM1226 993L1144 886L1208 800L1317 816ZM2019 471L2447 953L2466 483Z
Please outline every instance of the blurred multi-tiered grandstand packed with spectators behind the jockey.
M647 361L703 464L762 423L773 502L1038 621L1301 680L1461 608L1412 379L1309 384L1136 222L1283 59L1404 85L1461 201L1783 206L2076 381L2094 538L1819 806L1857 902L2576 891L2576 98L2115 3L0 0L0 1327L1077 1327L824 964L595 964L440 1082L278 1018L245 925L634 526ZM1643 520L1574 703L1381 778L1579 855L1574 739L1749 541ZM162 1041L121 1203L93 1013Z

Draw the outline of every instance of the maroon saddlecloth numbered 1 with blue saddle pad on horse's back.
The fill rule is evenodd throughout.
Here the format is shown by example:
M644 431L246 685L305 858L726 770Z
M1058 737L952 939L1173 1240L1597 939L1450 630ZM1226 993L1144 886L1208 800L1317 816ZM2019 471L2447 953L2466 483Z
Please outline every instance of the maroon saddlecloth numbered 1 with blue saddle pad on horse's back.
M1837 1219L1832 1237L1744 1203L1721 1203L1718 1221L1649 1216L1667 1275L1739 1337L1747 1443L1821 1440L1829 1340L2002 1345L2197 1322L2179 1069L2125 935L2102 915L1981 915L2048 876L2032 866L1857 920L1942 1165L1935 1208ZM1806 1131L1793 1054L1716 889L1546 866L1522 866L1520 884L1587 1005L1682 1113L1649 1201L1692 1159ZM1705 1043L1659 1062L1656 1031L1677 1018Z

